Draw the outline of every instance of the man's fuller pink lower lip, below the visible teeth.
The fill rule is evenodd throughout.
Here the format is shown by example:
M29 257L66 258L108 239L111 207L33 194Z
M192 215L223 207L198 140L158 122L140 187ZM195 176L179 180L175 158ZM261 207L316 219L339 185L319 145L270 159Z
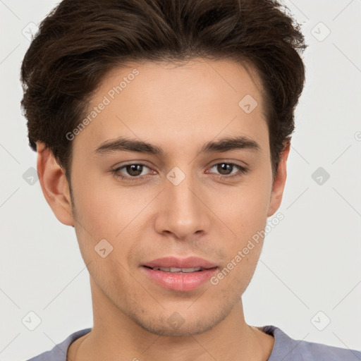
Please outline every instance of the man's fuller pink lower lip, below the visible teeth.
M216 273L217 267L188 273L164 272L144 266L142 269L144 269L145 273L160 286L171 290L186 291L195 290L203 283L207 282Z

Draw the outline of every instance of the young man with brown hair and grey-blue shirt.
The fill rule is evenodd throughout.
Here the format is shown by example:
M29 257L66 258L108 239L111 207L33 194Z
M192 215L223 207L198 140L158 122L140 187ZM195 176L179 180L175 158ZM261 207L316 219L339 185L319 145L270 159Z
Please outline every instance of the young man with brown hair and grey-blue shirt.
M244 318L303 49L276 1L63 0L44 19L22 105L44 197L90 272L94 326L32 360L361 359Z

